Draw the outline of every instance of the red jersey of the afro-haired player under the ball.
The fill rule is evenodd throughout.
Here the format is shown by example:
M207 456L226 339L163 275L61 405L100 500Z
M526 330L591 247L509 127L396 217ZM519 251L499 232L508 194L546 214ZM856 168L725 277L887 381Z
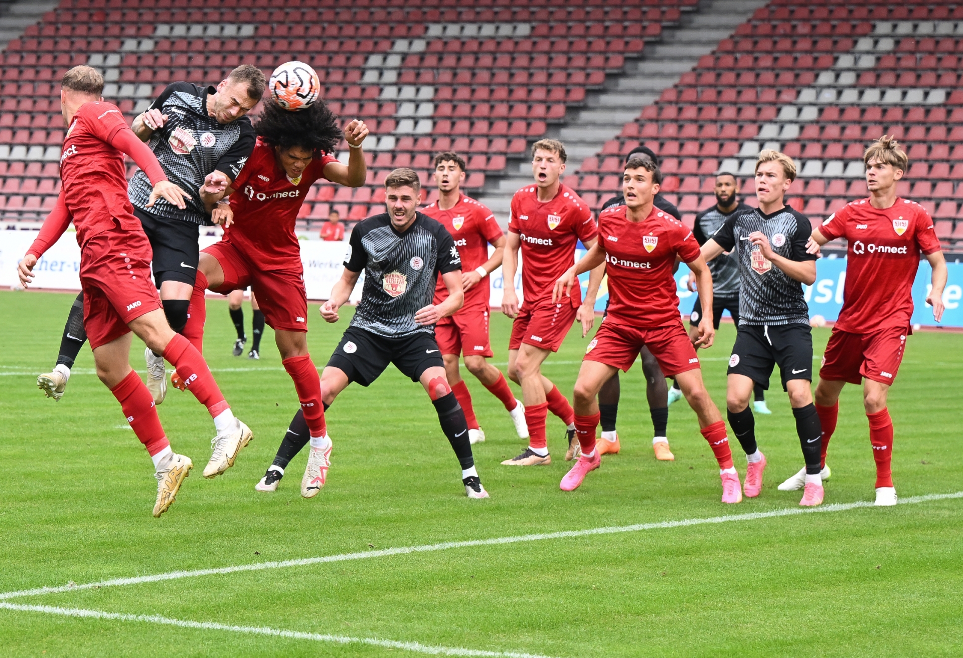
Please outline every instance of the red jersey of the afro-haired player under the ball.
M231 183L234 223L224 239L238 246L255 266L286 269L300 266L295 221L304 197L315 181L325 178L325 166L337 159L325 154L308 164L301 177L288 178L274 159L274 148L257 140L241 173Z

